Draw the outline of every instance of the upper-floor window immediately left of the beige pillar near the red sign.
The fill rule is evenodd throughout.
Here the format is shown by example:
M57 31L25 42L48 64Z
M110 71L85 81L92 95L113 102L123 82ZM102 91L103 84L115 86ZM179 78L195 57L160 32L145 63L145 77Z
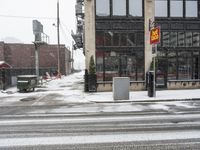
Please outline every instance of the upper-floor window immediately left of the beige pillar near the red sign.
M129 0L129 15L142 16L142 0Z

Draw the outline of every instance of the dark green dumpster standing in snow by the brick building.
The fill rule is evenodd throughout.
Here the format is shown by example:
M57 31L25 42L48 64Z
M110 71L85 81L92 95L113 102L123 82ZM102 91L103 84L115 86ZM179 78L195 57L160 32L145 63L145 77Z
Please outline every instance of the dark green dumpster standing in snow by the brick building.
M36 75L20 75L17 76L17 88L19 92L35 91L37 86Z

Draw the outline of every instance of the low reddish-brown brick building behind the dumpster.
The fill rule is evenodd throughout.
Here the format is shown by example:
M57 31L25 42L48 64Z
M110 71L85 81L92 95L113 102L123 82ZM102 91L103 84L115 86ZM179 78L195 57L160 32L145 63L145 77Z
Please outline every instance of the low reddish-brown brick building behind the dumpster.
M39 72L53 74L58 70L58 46L43 44L38 47ZM9 85L16 83L17 75L35 74L35 45L0 42L0 61L12 66L9 69ZM60 45L60 72L62 75L71 73L71 52Z

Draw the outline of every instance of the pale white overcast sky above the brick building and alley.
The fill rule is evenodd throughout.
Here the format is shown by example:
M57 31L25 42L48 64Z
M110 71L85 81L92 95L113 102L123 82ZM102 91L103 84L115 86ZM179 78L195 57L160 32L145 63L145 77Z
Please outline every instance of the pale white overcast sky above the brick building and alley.
M59 2L60 43L71 47L71 30L76 30L76 0ZM56 24L57 0L0 0L0 4L0 41L10 42L13 38L14 42L32 43L32 20L38 20L43 24L44 33L50 37L50 44L57 44L57 29L52 25ZM79 52L75 52L75 62L78 65L76 68L79 68L79 65L83 67L80 55Z

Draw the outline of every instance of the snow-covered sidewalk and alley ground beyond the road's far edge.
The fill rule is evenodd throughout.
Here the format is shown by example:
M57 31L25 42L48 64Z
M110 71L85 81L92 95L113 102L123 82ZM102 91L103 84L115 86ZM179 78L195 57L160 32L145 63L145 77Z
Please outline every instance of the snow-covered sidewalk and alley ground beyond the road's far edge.
M83 75L84 72L79 72L63 76L61 79L51 80L36 88L35 92L19 93L16 87L7 89L7 92L1 91L0 105L12 104L28 98L36 100L39 105L45 104L46 101L62 103L116 102L113 100L112 92L84 93ZM152 98L148 97L147 91L135 91L130 92L128 101L185 99L200 99L200 89L156 91L156 97ZM40 100L43 100L43 102L40 102ZM117 102L123 102L123 100Z

